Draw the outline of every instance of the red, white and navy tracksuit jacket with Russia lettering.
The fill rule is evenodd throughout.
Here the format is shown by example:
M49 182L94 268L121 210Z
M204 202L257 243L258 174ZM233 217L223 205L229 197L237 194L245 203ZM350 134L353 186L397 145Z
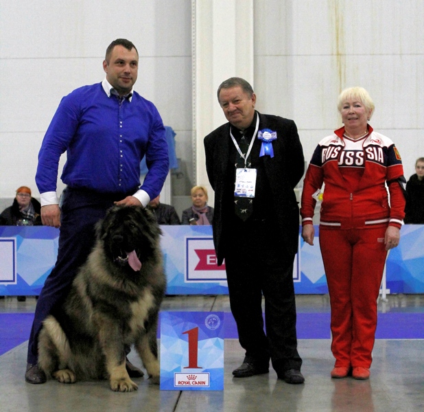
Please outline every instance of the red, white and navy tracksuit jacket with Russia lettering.
M344 222L357 218L364 227L385 224L401 227L405 216L405 182L401 157L393 142L375 133L368 126L370 135L364 140L364 151L351 159L353 167L364 165L364 174L354 189L346 184L338 163L343 152L344 127L335 130L318 144L307 169L303 184L301 216L303 224L311 223L316 198L313 195L325 183L320 225L343 227ZM346 163L346 160L344 161ZM390 192L390 207L385 183Z

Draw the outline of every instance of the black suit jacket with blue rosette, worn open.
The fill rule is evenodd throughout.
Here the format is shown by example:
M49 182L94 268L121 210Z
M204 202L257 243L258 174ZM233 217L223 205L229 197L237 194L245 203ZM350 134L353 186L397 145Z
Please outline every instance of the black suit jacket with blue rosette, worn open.
M296 124L293 120L274 115L259 115L259 130L268 128L276 132L277 138L272 141L274 157L263 158L266 179L272 192L272 201L278 220L278 227L287 253L294 256L298 249L299 209L294 194L294 187L301 180L305 170L305 159ZM206 168L209 183L215 191L213 216L213 242L217 253L218 264L222 264L228 251L225 250L224 239L228 230L228 219L234 215L234 206L226 201L226 196L233 196L233 189L228 187L229 168L228 155L233 141L230 137L230 124L226 123L213 130L204 138L206 152ZM259 157L261 141L255 139L251 156ZM229 190L231 189L231 190ZM230 192L230 193L228 193Z

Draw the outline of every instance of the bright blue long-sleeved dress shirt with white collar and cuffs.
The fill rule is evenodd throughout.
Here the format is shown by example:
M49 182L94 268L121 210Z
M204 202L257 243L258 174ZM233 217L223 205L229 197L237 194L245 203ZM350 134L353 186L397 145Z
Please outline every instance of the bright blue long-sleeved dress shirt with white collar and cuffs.
M62 98L38 154L36 183L42 201L43 193L56 194L58 162L65 151L63 183L98 193L139 188L152 199L169 170L165 128L154 104L134 91L120 100L106 80ZM140 186L144 155L149 172Z

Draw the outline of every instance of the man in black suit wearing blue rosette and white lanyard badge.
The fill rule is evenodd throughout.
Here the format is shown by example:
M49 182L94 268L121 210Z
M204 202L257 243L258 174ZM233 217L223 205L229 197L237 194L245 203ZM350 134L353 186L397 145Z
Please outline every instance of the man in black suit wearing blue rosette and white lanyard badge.
M256 95L242 78L222 82L217 97L228 123L204 138L204 148L215 191L217 261L225 259L231 312L246 350L233 376L266 374L271 359L279 379L303 383L293 264L299 232L294 187L305 163L296 124L255 111Z

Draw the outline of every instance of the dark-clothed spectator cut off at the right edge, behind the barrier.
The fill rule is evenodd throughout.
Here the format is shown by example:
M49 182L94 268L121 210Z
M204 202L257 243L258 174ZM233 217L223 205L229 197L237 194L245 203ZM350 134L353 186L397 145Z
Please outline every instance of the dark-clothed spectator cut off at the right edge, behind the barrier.
M416 160L415 172L406 183L404 222L424 225L424 157Z

